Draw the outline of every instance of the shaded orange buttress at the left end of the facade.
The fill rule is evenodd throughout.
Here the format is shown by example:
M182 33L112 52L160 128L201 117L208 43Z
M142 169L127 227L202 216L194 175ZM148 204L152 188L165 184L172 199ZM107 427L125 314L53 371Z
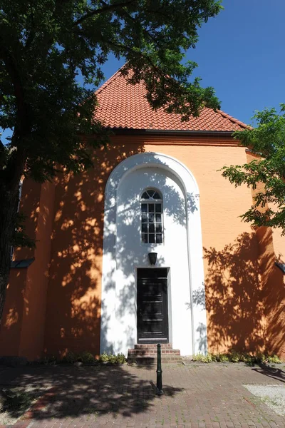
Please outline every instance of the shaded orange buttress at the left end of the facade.
M36 250L15 250L14 258L35 258L28 268L12 269L0 330L0 355L21 355L29 360L43 353L46 291L51 251L54 185L24 180L21 210L26 232Z

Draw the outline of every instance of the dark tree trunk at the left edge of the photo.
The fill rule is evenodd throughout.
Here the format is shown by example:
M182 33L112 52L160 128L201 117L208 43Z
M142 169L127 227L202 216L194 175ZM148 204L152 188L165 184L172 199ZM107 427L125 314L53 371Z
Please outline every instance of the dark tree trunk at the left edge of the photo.
M0 183L0 323L11 265L11 238L16 227L19 203L19 181L13 188Z

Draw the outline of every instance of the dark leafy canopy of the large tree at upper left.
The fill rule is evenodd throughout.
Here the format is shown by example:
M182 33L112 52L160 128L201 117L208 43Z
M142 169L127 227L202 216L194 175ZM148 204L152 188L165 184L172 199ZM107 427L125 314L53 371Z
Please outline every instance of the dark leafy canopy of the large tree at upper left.
M9 181L23 158L25 175L40 181L57 164L90 166L89 149L103 142L93 88L110 53L126 58L131 83L145 81L153 108L184 119L204 105L217 108L212 88L188 81L196 64L181 61L197 28L220 9L216 0L1 1L0 126L14 130L1 146L1 180ZM80 133L93 138L83 144Z

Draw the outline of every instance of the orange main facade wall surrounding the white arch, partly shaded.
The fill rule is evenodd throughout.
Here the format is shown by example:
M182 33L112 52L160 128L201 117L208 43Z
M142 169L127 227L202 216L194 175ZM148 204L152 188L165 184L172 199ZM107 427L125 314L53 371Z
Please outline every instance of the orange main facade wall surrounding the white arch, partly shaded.
M26 277L19 278L24 283L24 292L17 292L22 296L17 297L22 315L9 328L21 333L18 347L11 344L10 349L30 358L41 353L64 355L68 350L98 355L105 184L115 165L143 151L177 158L199 185L209 350L271 350L285 357L281 337L272 327L278 317L285 331L276 307L280 300L276 293L281 291L269 292L275 279L269 285L264 273L272 268L283 283L281 271L272 267L274 247L267 245L262 231L239 218L252 204L251 190L234 188L217 171L245 163L247 153L230 138L212 137L115 136L108 150L96 153L92 170L58 176L55 190L42 188L39 198L37 185L30 185L38 198L38 212L30 222L36 224L38 245L35 262ZM282 246L279 238L276 245ZM6 320L13 309L12 294L9 289ZM8 327L2 327L2 343L7 332Z

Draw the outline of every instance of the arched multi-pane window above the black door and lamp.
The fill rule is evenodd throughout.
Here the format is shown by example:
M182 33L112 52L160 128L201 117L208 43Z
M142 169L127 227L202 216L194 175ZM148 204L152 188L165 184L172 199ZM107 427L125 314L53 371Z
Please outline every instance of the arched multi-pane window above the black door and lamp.
M162 244L162 195L146 189L140 198L141 237L145 244Z

